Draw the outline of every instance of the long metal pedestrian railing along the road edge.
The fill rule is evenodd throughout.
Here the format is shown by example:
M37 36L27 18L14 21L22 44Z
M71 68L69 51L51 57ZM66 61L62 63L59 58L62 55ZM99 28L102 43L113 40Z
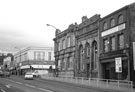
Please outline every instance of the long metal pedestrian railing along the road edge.
M122 92L134 92L133 82L127 80L112 80L112 79L84 78L84 77L54 77L48 75L42 75L41 78L73 83L78 85L111 89Z

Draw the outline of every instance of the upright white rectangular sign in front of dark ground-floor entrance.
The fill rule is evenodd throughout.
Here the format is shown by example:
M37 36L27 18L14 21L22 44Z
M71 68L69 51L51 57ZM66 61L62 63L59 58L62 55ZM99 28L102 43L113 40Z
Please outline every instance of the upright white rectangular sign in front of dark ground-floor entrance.
M121 57L115 58L115 71L120 73L122 72L122 60Z

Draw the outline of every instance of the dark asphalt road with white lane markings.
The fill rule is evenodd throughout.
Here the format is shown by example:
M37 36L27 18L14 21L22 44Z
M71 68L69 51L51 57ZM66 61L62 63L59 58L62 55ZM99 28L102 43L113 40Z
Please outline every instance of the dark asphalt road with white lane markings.
M0 78L0 88L4 90L1 92L107 92L96 88L86 88L69 83L42 80L39 78L24 80L23 77L18 76Z

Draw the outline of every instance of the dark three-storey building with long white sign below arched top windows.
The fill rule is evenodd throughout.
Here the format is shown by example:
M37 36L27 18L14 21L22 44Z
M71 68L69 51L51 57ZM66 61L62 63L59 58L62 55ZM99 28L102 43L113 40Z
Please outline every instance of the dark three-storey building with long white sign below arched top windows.
M135 80L135 3L103 17L99 24L101 77Z

